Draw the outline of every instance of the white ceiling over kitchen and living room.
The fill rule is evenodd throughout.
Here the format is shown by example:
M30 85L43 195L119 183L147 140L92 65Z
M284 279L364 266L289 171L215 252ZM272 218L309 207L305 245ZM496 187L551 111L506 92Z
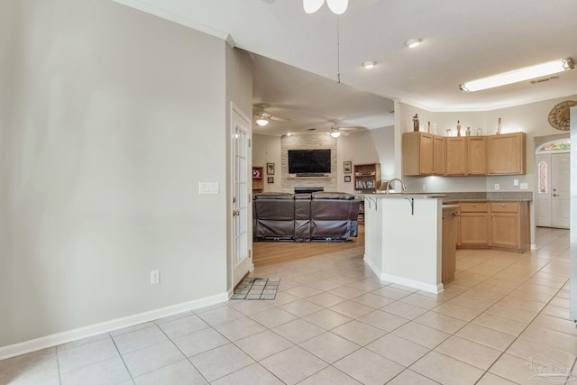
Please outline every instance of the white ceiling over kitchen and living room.
M577 94L577 69L534 85L458 87L545 61L577 61L575 0L350 0L338 17L326 5L306 14L301 0L115 1L252 52L255 112L266 103L265 112L289 119L254 133L389 126L392 99L429 111L483 111ZM409 49L412 38L423 44ZM365 60L377 66L363 69Z

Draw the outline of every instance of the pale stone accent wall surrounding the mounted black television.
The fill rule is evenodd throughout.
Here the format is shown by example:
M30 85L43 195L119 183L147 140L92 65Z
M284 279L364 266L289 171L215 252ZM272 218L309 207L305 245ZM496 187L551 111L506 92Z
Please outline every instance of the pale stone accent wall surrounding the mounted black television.
M331 177L318 179L289 178L289 150L331 150ZM326 133L308 133L290 135L280 138L280 178L282 192L294 192L296 187L325 188L325 191L336 191L336 138Z

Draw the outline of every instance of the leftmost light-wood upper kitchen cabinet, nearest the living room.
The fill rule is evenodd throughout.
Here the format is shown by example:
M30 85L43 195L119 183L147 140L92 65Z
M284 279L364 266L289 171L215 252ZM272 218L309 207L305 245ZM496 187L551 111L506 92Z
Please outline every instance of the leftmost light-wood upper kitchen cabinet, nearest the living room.
M403 174L433 174L433 134L403 133Z

